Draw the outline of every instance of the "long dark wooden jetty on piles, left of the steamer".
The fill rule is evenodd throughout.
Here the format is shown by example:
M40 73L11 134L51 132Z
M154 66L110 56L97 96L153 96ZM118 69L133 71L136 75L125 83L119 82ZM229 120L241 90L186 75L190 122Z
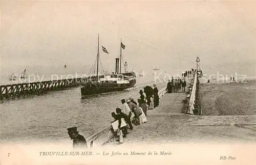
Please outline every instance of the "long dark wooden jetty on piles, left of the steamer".
M99 76L101 77L101 75ZM33 82L20 82L17 84L1 85L0 100L40 95L49 91L59 91L79 86L81 82L95 81L97 76L76 77L65 79L48 79Z

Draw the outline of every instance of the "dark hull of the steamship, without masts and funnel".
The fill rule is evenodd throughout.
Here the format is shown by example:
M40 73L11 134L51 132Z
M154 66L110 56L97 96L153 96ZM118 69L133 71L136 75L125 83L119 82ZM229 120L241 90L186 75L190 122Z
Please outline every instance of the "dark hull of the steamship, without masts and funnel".
M130 80L129 84L117 84L116 81L108 82L87 82L86 84L80 86L81 95L95 95L100 93L123 91L127 88L131 88L136 84L136 79Z

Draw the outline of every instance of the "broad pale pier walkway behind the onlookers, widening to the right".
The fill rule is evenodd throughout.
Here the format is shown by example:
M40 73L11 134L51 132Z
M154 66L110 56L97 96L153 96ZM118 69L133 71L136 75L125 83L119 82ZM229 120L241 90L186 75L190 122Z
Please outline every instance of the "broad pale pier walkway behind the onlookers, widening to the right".
M166 93L158 107L147 110L147 122L129 131L122 146L133 143L255 142L256 116L187 115L184 114L186 95L181 91Z

